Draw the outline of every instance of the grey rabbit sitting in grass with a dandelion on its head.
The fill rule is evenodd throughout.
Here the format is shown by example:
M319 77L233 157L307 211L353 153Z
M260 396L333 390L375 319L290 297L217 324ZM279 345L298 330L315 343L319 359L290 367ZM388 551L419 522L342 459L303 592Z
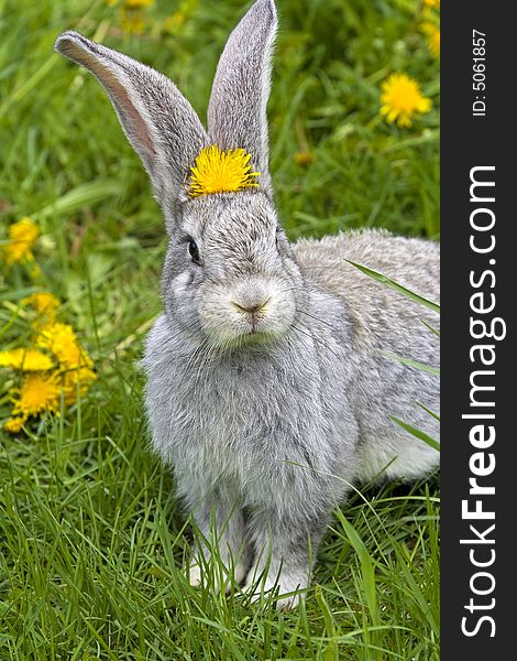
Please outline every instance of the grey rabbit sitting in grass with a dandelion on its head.
M204 582L217 544L227 579L251 599L278 589L277 606L292 608L354 485L439 463L392 419L438 436L418 405L438 411L438 377L396 359L438 365L438 315L350 263L438 300L439 246L382 230L289 242L268 169L276 28L275 2L256 0L233 30L207 130L148 66L72 31L55 48L106 88L165 217L164 312L142 362L152 445L201 532L188 579ZM210 149L246 154L242 186L193 194Z

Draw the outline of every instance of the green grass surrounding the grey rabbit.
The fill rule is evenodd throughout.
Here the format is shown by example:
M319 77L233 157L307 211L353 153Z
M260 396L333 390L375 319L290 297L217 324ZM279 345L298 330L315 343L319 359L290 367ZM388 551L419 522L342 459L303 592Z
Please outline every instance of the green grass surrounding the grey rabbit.
M438 238L439 63L419 3L278 6L272 171L289 236L366 226ZM155 2L131 35L120 7L100 0L0 0L0 241L22 216L43 232L40 279L2 264L0 343L28 338L16 303L50 290L98 372L59 418L26 436L0 432L2 661L439 658L437 477L364 487L338 509L299 610L246 607L234 586L226 598L184 576L190 532L147 449L136 367L161 308L162 219L100 86L52 47L68 28L105 39L170 75L204 117L243 9ZM378 115L393 71L433 101L410 130ZM307 151L302 166L295 154ZM1 420L9 410L2 389Z

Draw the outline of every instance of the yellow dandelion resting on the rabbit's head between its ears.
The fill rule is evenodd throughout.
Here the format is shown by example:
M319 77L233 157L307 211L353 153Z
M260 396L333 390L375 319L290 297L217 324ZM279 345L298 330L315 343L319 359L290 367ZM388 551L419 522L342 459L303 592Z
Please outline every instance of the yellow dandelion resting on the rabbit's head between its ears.
M190 167L190 197L213 193L234 193L243 188L257 188L260 172L250 172L251 154L243 149L221 151L217 144L206 147Z

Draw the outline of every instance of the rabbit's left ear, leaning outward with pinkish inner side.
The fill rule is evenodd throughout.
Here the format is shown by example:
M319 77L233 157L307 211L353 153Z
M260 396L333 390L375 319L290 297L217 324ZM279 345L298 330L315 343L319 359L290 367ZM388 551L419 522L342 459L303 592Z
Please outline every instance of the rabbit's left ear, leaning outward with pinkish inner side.
M64 32L55 50L98 78L160 202L176 202L197 154L208 144L190 104L162 74L77 32Z

